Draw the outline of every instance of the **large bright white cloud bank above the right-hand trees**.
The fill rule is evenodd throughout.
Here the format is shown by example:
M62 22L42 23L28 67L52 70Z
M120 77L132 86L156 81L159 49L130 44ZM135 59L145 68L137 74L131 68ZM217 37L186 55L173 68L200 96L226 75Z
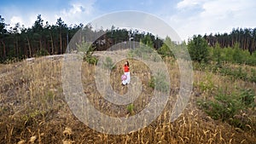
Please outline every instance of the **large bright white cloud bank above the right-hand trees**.
M177 12L166 20L182 39L194 34L231 32L236 27L256 26L256 1L253 0L183 0Z

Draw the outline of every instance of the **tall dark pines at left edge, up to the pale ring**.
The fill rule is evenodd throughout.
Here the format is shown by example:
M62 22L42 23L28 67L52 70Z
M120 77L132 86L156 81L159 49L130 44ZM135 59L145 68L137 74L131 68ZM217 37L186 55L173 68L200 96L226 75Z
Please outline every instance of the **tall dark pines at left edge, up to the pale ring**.
M8 30L0 15L0 61L22 60L36 55L63 54L70 38L83 25L67 26L61 18L55 25L43 24L41 14L38 14L33 26L26 28L15 24Z

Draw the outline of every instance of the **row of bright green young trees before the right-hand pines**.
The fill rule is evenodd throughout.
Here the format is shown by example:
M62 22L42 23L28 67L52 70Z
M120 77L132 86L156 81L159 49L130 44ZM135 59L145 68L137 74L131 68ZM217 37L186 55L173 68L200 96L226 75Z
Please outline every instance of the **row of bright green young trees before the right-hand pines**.
M218 42L210 46L204 37L197 35L189 40L188 49L191 60L199 63L213 61L218 66L225 62L256 66L256 51L244 50L238 42L232 47L221 47Z

